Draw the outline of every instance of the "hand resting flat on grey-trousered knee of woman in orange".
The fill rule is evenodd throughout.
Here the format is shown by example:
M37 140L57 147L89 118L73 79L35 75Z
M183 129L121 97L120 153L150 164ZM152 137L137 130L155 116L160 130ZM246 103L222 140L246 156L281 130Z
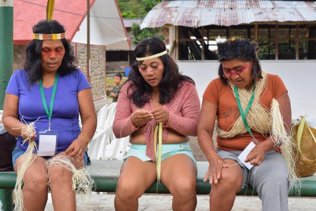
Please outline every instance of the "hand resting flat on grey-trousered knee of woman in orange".
M220 157L216 152L212 153L210 157L208 157L209 161L209 170L205 174L204 182L206 182L210 178L210 184L213 182L217 184L218 180L221 177L221 172L223 168L228 168L228 164L225 163L224 159Z

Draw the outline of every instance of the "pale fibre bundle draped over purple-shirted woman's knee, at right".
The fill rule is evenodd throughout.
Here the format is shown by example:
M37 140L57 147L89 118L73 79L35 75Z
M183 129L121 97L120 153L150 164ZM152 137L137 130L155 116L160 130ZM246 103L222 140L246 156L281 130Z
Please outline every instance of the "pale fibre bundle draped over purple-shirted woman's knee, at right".
M88 173L88 168L76 169L71 163L70 157L68 156L54 156L46 161L46 167L49 169L52 166L59 166L67 169L72 175L72 190L76 194L86 194L86 199L91 194L94 181Z

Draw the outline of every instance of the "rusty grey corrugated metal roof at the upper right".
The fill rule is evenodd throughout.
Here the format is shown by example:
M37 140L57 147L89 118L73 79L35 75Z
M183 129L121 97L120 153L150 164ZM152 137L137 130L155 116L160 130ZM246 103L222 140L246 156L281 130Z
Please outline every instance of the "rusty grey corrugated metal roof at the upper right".
M175 0L156 5L141 28L165 24L200 27L252 22L316 21L316 2L281 0Z

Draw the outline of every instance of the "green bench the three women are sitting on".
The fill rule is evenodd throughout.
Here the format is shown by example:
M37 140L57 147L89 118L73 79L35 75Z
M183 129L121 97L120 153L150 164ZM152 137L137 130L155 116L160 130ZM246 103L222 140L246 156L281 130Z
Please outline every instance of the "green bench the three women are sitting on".
M115 192L118 177L120 174L120 167L122 165L122 160L92 160L91 164L88 164L90 175L94 179L95 192ZM208 162L199 161L197 162L197 178L196 178L196 193L197 194L209 194L211 190L211 185L208 182L203 182L205 173L209 168ZM316 174L309 177L301 178L302 186L300 194L304 197L316 197ZM14 172L0 172L0 200L2 201L2 211L11 211L12 208L3 209L3 205L8 207L12 206L10 189L14 189L16 183L16 174ZM146 193L170 193L168 189L162 184L155 182L150 186ZM1 194L2 193L2 194ZM7 194L7 195L4 195ZM258 195L256 191L253 191L252 187L248 187L238 192L238 195ZM297 192L291 190L289 196L296 196Z

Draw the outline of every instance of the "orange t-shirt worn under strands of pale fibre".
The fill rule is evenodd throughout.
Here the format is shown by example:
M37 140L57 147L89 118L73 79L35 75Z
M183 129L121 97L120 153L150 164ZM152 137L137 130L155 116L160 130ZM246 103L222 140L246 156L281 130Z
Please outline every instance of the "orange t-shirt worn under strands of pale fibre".
M287 92L287 89L279 76L268 74L267 77L267 87L263 89L260 102L270 109L272 99L278 99L278 97ZM213 79L206 88L203 98L217 106L217 124L222 130L228 131L229 127L240 116L236 98L228 85L222 83L220 78ZM261 134L253 130L251 132L259 142L263 142L270 136L270 134ZM217 148L228 151L242 151L250 143L251 139L252 137L248 132L231 138L223 138L217 135Z

